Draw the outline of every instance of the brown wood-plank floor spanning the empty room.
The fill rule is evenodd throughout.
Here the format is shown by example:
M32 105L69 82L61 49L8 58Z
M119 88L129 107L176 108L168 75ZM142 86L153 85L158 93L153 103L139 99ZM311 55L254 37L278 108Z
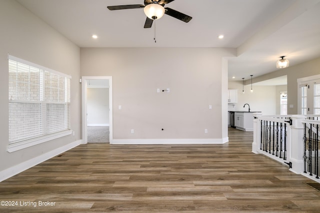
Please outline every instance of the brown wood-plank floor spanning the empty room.
M17 206L0 212L319 212L314 182L251 143L229 128L223 145L81 145L1 182Z

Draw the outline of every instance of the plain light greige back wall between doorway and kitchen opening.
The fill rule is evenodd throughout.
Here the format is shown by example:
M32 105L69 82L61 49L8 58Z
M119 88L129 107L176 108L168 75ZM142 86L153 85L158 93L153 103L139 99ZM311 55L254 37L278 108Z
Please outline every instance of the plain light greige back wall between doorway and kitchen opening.
M112 76L113 139L221 139L227 137L222 58L234 54L231 48L81 48L80 67L82 76Z

